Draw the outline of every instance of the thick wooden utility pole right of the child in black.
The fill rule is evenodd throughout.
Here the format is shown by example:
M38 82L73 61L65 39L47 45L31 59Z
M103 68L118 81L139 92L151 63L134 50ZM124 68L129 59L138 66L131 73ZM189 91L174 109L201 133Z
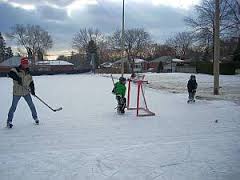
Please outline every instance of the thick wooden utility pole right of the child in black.
M214 19L214 63L213 63L213 74L214 74L214 89L213 94L219 95L219 58L220 58L220 0L215 0L215 19Z

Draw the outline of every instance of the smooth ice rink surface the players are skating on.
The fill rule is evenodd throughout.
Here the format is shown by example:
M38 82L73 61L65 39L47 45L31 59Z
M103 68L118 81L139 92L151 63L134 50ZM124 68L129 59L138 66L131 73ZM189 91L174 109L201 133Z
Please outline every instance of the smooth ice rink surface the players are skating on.
M132 111L117 115L110 78L34 80L37 95L63 110L51 112L34 99L36 126L22 99L14 128L4 128L12 82L0 78L1 180L240 179L240 106L233 102L187 104L185 92L147 88L156 116L137 118Z

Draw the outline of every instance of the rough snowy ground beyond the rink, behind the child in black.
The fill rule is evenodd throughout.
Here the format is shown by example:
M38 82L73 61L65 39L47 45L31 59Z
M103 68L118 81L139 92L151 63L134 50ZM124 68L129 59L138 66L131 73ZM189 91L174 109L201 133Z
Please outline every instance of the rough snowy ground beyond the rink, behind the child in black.
M143 74L140 74L143 75ZM145 73L147 85L153 89L166 90L172 93L186 93L189 73ZM109 76L109 75L104 75ZM120 75L114 75L118 77ZM128 75L130 76L130 75ZM207 74L196 74L198 89L197 99L229 100L240 104L240 75L220 75L220 95L213 95L214 77Z

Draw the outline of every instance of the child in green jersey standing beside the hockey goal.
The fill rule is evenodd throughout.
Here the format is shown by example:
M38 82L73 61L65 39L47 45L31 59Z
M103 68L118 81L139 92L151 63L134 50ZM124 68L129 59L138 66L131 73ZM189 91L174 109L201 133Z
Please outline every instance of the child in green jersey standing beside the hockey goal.
M112 93L116 95L116 99L118 102L118 113L124 114L125 113L125 107L126 107L126 78L120 77L119 81L114 84L114 88L112 90Z

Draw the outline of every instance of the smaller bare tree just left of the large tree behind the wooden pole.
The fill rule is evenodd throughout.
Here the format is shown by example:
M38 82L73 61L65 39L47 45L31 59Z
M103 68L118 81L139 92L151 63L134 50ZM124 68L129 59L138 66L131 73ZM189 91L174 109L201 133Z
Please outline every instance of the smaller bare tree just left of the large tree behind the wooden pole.
M190 32L177 33L174 37L169 38L166 44L175 49L175 56L185 59L193 45L193 35Z

